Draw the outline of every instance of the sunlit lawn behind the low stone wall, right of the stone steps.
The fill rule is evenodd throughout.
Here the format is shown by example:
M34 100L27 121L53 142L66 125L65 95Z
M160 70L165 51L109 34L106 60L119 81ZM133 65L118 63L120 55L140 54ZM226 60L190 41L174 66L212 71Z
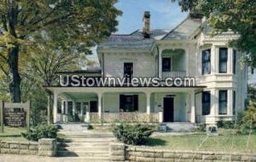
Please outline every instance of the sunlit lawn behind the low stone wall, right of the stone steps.
M248 137L242 135L233 136L232 130L219 130L218 136L207 136L205 133L154 136L148 140L147 145L172 150L256 153L256 135Z

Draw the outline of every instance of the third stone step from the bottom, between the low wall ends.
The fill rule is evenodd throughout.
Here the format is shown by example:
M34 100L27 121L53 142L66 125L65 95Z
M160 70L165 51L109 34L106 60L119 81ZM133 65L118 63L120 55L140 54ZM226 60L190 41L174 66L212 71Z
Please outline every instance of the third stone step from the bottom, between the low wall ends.
M88 147L88 146L67 146L67 147L60 147L59 148L60 151L91 151L91 150L95 150L95 151L109 151L109 147L108 146L104 146L104 147Z

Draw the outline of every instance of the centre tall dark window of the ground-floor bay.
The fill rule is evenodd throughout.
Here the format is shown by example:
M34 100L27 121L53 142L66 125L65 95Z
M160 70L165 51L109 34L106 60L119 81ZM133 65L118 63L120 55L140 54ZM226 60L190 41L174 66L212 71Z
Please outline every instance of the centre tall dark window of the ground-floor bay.
M227 114L227 98L228 98L227 90L218 91L218 114L220 115Z

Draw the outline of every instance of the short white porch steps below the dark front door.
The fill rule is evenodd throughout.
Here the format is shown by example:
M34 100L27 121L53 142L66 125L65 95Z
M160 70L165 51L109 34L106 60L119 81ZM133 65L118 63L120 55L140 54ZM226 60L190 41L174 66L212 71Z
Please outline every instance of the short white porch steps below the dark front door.
M164 124L166 124L166 131L168 132L194 132L198 127L198 124L187 122L174 122Z

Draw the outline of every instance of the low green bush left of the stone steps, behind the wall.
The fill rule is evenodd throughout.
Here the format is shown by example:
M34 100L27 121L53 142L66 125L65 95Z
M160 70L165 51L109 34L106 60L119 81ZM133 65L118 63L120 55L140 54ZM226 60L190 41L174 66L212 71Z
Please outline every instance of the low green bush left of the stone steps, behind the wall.
M40 138L56 138L57 131L54 125L40 124L21 134L29 141L38 141Z

